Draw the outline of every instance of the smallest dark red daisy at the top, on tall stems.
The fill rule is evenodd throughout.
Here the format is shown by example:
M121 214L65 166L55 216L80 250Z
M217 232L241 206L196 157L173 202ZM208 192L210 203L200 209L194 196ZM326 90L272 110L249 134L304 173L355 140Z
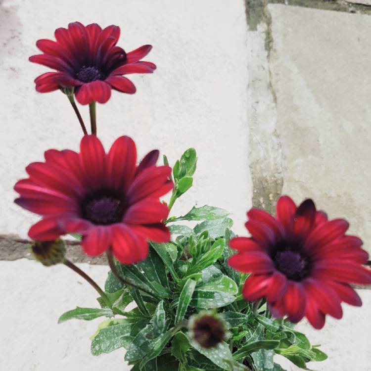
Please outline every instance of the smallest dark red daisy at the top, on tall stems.
M74 87L81 104L105 103L111 88L123 93L136 92L134 84L122 75L152 73L156 69L151 62L139 61L152 46L143 45L129 53L116 46L120 37L118 26L102 30L96 23L84 26L74 22L68 29L56 29L54 36L56 41L39 40L36 46L43 54L30 57L31 62L58 71L47 72L35 80L40 93Z

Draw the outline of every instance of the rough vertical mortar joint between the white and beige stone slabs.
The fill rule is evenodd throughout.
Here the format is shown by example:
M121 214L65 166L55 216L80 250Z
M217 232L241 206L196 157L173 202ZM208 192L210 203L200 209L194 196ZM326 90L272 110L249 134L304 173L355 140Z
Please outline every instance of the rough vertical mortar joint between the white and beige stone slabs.
M274 214L283 187L283 171L277 131L277 97L271 84L271 15L267 0L245 0L245 9L248 25L247 116L252 204Z

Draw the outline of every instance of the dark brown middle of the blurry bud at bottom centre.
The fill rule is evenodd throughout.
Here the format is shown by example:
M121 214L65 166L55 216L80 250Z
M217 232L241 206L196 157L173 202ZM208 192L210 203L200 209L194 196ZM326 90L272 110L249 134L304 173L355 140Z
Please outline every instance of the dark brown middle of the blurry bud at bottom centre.
M202 316L193 327L193 336L203 348L213 348L223 341L225 335L223 323L212 316Z

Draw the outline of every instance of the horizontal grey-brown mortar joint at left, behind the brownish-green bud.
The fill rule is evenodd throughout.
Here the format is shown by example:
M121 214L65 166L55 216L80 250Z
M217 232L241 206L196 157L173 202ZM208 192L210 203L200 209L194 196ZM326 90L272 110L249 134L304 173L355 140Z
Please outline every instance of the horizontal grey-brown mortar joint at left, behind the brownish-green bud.
M31 241L19 238L13 234L0 234L0 260L13 261L17 259L34 260L27 245ZM67 255L66 257L73 263L89 263L98 265L107 265L105 255L88 256L86 255L79 241L65 240Z

